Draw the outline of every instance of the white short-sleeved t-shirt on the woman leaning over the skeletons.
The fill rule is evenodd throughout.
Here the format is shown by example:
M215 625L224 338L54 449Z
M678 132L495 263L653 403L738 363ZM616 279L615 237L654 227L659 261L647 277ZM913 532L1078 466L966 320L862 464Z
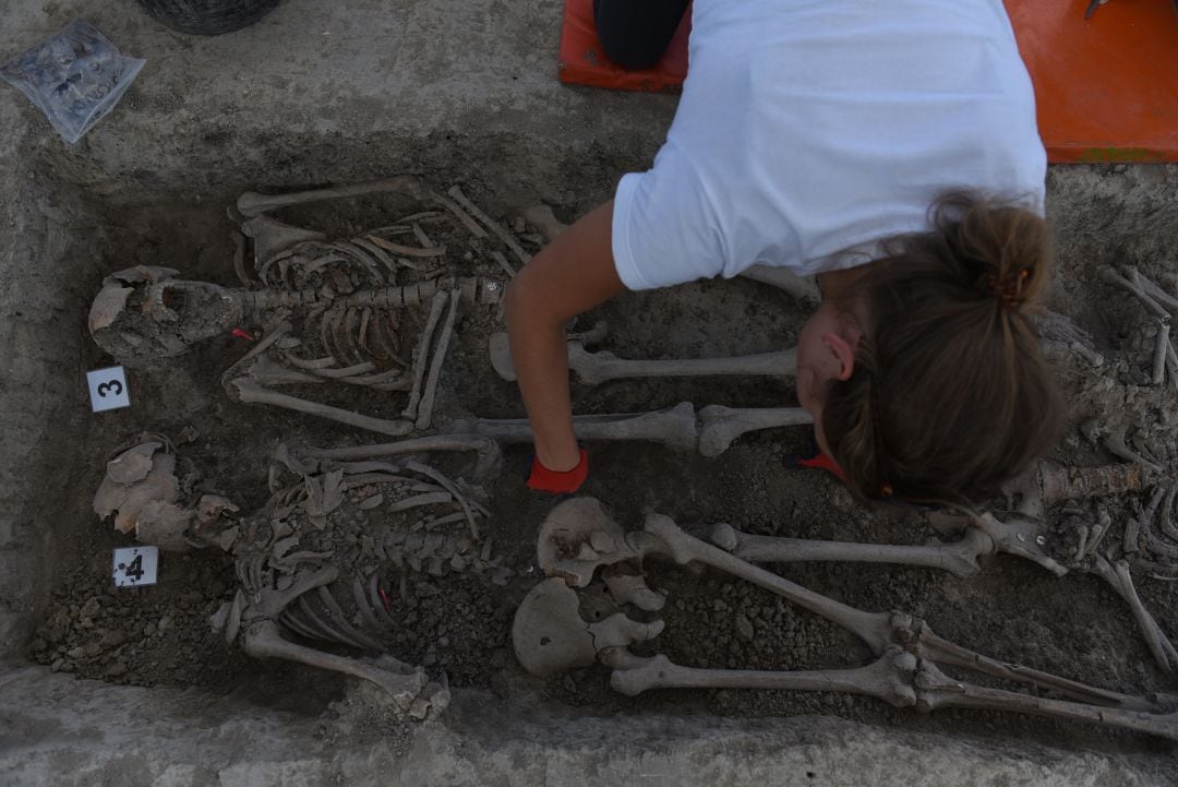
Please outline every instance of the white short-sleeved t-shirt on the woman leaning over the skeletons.
M629 289L861 264L927 229L953 189L1043 212L1046 154L1001 0L695 0L691 24L667 143L617 186Z

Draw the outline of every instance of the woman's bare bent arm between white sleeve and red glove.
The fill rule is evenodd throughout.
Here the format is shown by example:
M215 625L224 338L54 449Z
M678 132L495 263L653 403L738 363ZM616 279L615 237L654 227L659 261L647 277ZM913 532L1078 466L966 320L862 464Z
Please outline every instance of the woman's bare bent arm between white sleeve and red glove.
M507 292L511 359L536 457L550 470L570 470L581 458L564 324L626 290L614 267L613 218L613 200L595 207L536 254Z

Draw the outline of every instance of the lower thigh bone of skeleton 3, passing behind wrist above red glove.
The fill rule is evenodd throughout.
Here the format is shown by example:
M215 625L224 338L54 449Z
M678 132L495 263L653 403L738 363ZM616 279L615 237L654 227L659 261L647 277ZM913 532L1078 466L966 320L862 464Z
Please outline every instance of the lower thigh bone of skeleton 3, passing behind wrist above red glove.
M483 435L504 443L531 442L527 418L470 418L450 424L454 432ZM696 445L694 408L683 402L668 410L604 416L574 416L573 429L585 441L634 439L660 443L676 451L690 451Z

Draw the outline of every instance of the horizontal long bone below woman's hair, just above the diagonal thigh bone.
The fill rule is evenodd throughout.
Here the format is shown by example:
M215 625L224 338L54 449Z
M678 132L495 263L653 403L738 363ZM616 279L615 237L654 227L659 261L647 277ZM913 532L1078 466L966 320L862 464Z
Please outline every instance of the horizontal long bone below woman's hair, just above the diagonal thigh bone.
M980 570L978 557L994 551L994 542L978 528L967 528L961 540L955 543L926 547L756 536L741 533L728 524L717 524L710 538L722 549L754 563L806 561L895 563L942 569L960 577L977 574Z

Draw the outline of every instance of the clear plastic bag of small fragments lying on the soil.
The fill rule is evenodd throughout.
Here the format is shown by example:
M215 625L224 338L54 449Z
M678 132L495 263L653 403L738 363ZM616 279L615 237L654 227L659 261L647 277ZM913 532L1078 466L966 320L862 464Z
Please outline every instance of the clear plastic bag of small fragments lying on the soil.
M75 19L0 67L0 78L73 144L114 108L145 62L124 57L97 27Z

